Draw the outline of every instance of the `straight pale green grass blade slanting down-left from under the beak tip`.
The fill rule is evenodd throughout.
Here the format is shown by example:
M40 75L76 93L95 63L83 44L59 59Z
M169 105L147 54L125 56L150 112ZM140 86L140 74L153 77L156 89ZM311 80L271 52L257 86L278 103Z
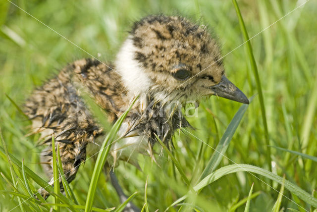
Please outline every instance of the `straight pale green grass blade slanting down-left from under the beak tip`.
M236 131L245 111L247 110L249 105L242 105L236 114L233 116L232 120L230 121L226 131L224 132L223 136L221 137L215 151L213 152L211 159L209 160L208 164L206 165L204 171L200 176L200 180L205 178L209 173L214 171L214 169L219 165L224 153L226 152L232 136Z

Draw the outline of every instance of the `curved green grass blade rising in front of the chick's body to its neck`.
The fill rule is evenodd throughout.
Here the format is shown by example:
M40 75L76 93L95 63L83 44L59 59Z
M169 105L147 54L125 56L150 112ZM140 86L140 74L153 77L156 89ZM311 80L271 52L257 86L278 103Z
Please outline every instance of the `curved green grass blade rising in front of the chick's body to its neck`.
M110 131L108 132L103 145L101 146L101 151L98 154L98 158L96 160L96 164L94 167L93 176L89 185L87 200L86 200L86 206L85 206L85 212L90 212L93 206L93 202L95 199L95 193L97 189L97 181L99 179L99 176L103 170L104 164L106 162L106 157L109 153L109 150L111 148L111 143L114 140L124 118L127 116L128 112L130 111L131 107L135 103L137 98L133 101L133 103L129 106L129 108L118 118L118 120L114 123Z

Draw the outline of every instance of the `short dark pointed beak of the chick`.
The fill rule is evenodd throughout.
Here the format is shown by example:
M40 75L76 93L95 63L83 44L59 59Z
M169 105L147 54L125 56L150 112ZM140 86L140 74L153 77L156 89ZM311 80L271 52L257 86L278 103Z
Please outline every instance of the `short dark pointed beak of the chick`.
M244 95L244 93L242 93L242 91L240 91L240 89L230 82L225 76L222 76L219 84L212 86L211 90L214 92L213 95L218 97L223 97L243 104L249 104L249 100L246 95Z

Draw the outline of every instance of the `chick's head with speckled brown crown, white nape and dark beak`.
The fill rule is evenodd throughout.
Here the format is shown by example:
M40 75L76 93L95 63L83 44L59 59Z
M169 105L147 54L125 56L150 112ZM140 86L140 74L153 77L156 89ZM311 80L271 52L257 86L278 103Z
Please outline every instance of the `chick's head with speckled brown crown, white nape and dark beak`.
M157 101L216 95L249 104L224 76L219 46L206 27L183 17L155 15L136 22L115 66L133 95L151 93Z

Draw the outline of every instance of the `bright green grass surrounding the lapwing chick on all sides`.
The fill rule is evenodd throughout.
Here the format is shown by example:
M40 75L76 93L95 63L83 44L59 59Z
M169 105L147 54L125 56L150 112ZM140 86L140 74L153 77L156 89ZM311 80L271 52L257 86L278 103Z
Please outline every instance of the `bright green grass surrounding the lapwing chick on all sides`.
M148 14L180 14L207 24L226 54L293 10L297 2L302 1L238 0L240 17L231 0L14 1L104 61L114 59L133 21ZM212 97L201 103L198 117L189 120L196 130L177 133L172 155L166 151L156 155L158 164L140 156L142 171L123 162L114 169L136 206L150 212L314 211L316 12L317 2L310 0L224 57L227 77L248 97L254 96L250 106L237 113L241 104ZM35 145L39 136L25 137L29 122L16 108L45 79L82 57L90 56L7 0L0 1L1 212L13 208L27 212L48 212L51 208L84 211L89 195L93 211L122 209L106 175L95 174L92 180L95 159L80 167L72 183L63 181L66 196L48 186L39 164L41 148ZM236 113L241 115L237 126L232 124L237 121L233 118ZM218 146L219 142L223 145ZM155 147L157 152L161 148L159 143ZM58 155L56 177L62 171ZM270 160L276 165L271 167ZM95 192L89 189L92 182ZM52 196L47 200L33 198L40 187L46 187ZM247 208L246 203L250 204Z

